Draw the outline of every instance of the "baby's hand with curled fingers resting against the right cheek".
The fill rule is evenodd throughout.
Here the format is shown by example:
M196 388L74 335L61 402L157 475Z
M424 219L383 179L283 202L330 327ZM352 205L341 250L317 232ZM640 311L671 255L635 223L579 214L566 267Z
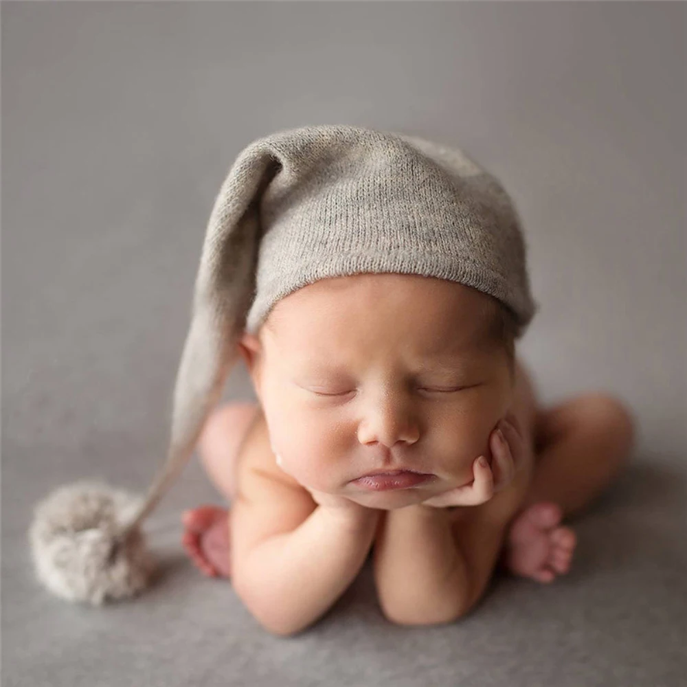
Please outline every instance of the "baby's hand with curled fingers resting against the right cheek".
M517 465L524 450L523 439L517 429L513 414L500 420L489 436L492 464L480 455L473 463L474 479L470 484L458 486L443 494L427 499L424 506L447 508L449 506L479 506L487 502L497 491L508 486L515 477Z

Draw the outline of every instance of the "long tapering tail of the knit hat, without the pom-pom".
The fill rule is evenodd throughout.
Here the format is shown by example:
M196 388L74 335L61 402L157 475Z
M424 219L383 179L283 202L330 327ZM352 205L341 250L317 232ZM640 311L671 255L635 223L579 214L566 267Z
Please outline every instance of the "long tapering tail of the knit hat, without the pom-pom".
M256 194L279 170L274 156L247 148L229 170L205 233L196 276L191 325L174 387L167 459L121 537L137 528L193 453L207 416L218 403L238 357L238 339L254 293L260 241Z

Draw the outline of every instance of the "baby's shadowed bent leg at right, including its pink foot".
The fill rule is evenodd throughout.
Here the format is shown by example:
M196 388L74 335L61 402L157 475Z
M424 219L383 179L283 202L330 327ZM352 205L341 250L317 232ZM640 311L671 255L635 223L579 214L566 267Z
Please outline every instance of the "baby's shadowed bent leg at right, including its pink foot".
M574 532L559 527L613 480L634 440L628 409L605 394L585 394L538 412L536 465L521 515L508 532L504 562L541 582L567 572Z

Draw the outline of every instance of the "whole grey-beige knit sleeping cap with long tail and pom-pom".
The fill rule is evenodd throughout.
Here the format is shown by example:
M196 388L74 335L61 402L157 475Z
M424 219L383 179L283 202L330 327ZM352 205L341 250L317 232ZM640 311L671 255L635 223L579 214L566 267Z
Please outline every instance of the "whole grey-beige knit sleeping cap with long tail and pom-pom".
M249 144L207 225L167 460L143 501L93 483L45 499L31 530L41 581L91 602L142 589L150 561L139 526L192 454L243 332L257 334L271 308L306 284L370 272L487 293L515 315L517 337L539 310L515 207L462 150L357 126L304 126Z

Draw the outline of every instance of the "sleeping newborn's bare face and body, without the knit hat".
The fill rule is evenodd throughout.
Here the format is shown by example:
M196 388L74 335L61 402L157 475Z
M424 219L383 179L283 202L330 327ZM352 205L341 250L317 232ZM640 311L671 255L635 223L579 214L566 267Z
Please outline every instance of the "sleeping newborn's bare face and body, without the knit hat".
M220 407L199 441L232 508L185 513L183 543L280 635L321 617L370 551L401 624L460 618L499 563L550 583L575 547L561 521L631 448L610 396L542 408L508 308L450 280L321 279L239 349L259 404Z

